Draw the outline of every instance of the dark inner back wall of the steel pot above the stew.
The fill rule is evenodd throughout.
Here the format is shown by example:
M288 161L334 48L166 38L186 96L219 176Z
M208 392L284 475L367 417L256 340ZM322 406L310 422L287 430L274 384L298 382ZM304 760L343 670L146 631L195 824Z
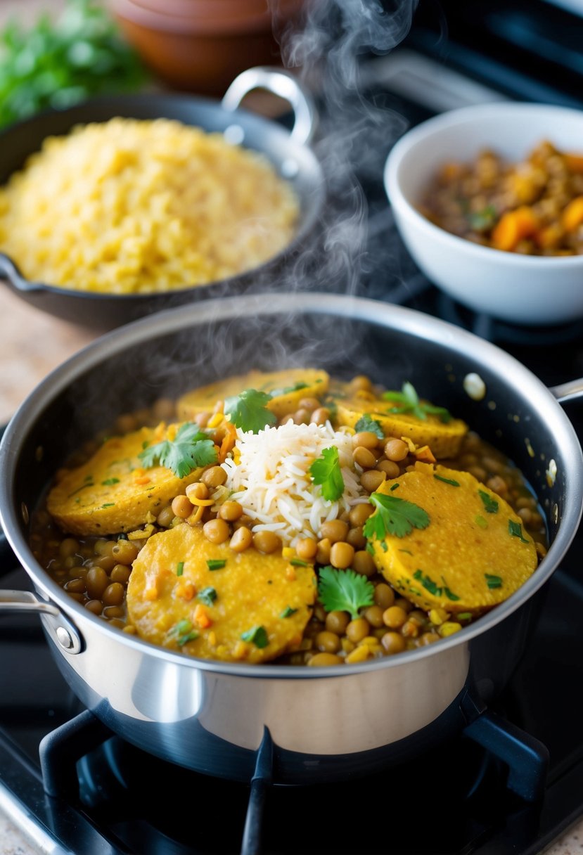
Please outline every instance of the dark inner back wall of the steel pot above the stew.
M304 301L310 303L310 295ZM15 506L35 507L68 454L107 432L121 413L249 369L304 366L341 380L368 374L390 389L409 380L421 397L464 419L522 470L539 497L551 541L563 511L574 520L568 523L574 534L578 508L571 505L579 476L568 478L568 472L580 447L561 408L520 363L456 327L423 315L420 321L418 313L399 307L356 300L368 314L358 318L345 313L343 298L324 300L341 311L296 309L286 295L283 302L287 310L277 313L241 298L161 313L160 322L154 316L118 330L98 342L97 351L91 347L57 370L19 414L26 435L15 465ZM469 373L486 384L479 401L463 389ZM554 481L547 475L551 460Z

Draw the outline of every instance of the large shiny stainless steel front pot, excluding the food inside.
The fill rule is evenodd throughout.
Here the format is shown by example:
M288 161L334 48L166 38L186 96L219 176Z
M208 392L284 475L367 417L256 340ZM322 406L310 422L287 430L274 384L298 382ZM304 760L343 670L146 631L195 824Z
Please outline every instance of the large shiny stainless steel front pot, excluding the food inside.
M68 598L38 566L27 543L21 504L32 503L25 492L31 467L38 465L38 438L45 437L49 447L51 430L59 429L60 396L84 384L91 371L101 374L121 365L132 348L150 351L156 342L174 354L182 333L199 340L206 327L219 322L231 335L236 324L245 327L258 317L271 329L276 315L291 320L294 330L302 316L316 318L319 327L329 330L341 322L355 329L359 324L367 341L380 336L383 358L389 361L391 349L397 347L400 353L405 341L417 362L423 350L434 364L443 363L445 384L461 388L463 372L470 368L483 374L488 395L483 402L468 402L475 408L474 423L494 421L501 435L503 430L509 433L516 455L532 467L545 506L557 504L547 556L504 604L448 639L394 657L318 669L253 666L193 659L120 633ZM258 342L252 339L252 348L259 347ZM305 342L300 351L302 346ZM302 352L304 358L311 357ZM452 362L458 364L459 376L454 376ZM351 364L358 368L358 363ZM363 356L362 364L367 367ZM461 401L457 399L459 405ZM552 486L539 463L528 463L525 437L537 449L537 460L557 461ZM486 700L502 690L527 644L536 616L533 604L539 599L535 594L557 568L579 525L582 473L579 441L551 392L521 363L471 333L361 298L303 294L300 308L297 295L270 295L268 304L253 295L207 301L137 321L98 339L51 374L15 414L0 445L0 518L39 598L50 599L77 628L84 648L71 656L58 645L49 623L53 616L42 618L62 674L103 722L162 758L241 780L252 774L252 752L267 727L282 780L294 782L305 775L346 774L362 764L367 768L374 752L390 758L392 748L400 752L403 743L420 740L420 734L443 738L444 722L457 715L456 698L464 687Z

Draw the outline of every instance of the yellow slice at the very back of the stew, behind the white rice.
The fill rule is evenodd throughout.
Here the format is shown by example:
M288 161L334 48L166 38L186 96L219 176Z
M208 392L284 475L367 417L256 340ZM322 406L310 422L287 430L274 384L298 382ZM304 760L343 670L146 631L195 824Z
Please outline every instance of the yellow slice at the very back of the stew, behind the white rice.
M256 389L274 396L267 408L280 419L296 412L302 398L321 398L327 392L329 379L326 371L316 369L286 369L271 373L250 371L186 392L178 400L178 416L191 419L197 413L211 413L217 401L224 401L245 389Z

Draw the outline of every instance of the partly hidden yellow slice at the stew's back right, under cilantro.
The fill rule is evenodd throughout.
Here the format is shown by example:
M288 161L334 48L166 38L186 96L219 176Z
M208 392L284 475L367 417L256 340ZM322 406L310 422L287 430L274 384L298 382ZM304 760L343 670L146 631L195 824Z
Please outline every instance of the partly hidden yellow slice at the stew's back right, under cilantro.
M368 413L379 422L385 436L409 437L415 445L429 445L435 457L456 457L462 439L468 433L468 425L461 419L441 422L439 416L427 414L420 419L410 413L392 413L395 404L361 392L351 398L339 399L338 421L341 425L356 428L356 422Z

